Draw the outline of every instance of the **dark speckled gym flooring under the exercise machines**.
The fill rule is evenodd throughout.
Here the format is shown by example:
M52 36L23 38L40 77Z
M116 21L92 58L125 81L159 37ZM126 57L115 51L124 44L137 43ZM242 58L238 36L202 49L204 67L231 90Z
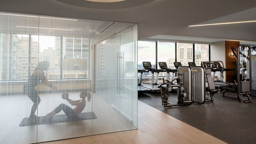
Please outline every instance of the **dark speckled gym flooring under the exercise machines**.
M138 100L229 144L256 143L256 98L242 103L224 98L220 92L214 94L213 103L172 107L162 105L161 94L139 94ZM177 94L170 93L169 100L177 103Z

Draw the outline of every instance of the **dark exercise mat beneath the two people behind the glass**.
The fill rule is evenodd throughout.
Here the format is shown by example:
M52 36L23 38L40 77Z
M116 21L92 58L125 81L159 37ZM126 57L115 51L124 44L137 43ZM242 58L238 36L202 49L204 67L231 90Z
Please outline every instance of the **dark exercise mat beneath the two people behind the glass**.
M39 116L37 118L37 121L36 120L30 121L30 118L23 118L23 120L20 122L20 126L77 121L77 120L88 120L88 119L95 119L95 118L97 118L97 116L94 114L94 112L83 112L79 114L78 117L76 118L68 118L66 114L57 114L53 116L52 120L45 120L45 116Z

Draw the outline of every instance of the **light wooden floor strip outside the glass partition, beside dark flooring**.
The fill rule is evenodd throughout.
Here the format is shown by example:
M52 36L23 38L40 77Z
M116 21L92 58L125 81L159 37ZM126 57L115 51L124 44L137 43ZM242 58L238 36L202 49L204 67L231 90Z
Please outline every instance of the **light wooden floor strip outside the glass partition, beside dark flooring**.
M138 130L86 136L43 144L226 144L138 101Z

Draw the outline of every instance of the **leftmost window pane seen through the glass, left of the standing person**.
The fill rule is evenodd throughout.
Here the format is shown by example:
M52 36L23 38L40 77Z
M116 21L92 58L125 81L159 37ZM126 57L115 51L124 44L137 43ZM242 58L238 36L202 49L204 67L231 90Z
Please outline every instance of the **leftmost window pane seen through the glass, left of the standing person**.
M28 79L28 35L0 34L0 80L27 80ZM32 43L36 48L37 43Z

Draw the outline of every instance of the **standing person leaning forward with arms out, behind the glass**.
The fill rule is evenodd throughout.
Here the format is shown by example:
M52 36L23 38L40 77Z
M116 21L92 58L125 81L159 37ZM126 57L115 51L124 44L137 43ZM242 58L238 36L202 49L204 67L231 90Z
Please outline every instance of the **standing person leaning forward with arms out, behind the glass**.
M30 119L32 120L36 120L35 112L41 101L35 89L35 86L38 84L38 82L42 81L44 84L46 84L46 86L49 86L54 90L56 89L56 86L52 85L44 75L44 70L47 70L49 66L50 66L50 63L48 61L39 62L38 66L36 67L32 75L28 79L28 82L26 82L24 86L25 94L28 95L30 100L32 100L32 102L34 103L30 112Z

